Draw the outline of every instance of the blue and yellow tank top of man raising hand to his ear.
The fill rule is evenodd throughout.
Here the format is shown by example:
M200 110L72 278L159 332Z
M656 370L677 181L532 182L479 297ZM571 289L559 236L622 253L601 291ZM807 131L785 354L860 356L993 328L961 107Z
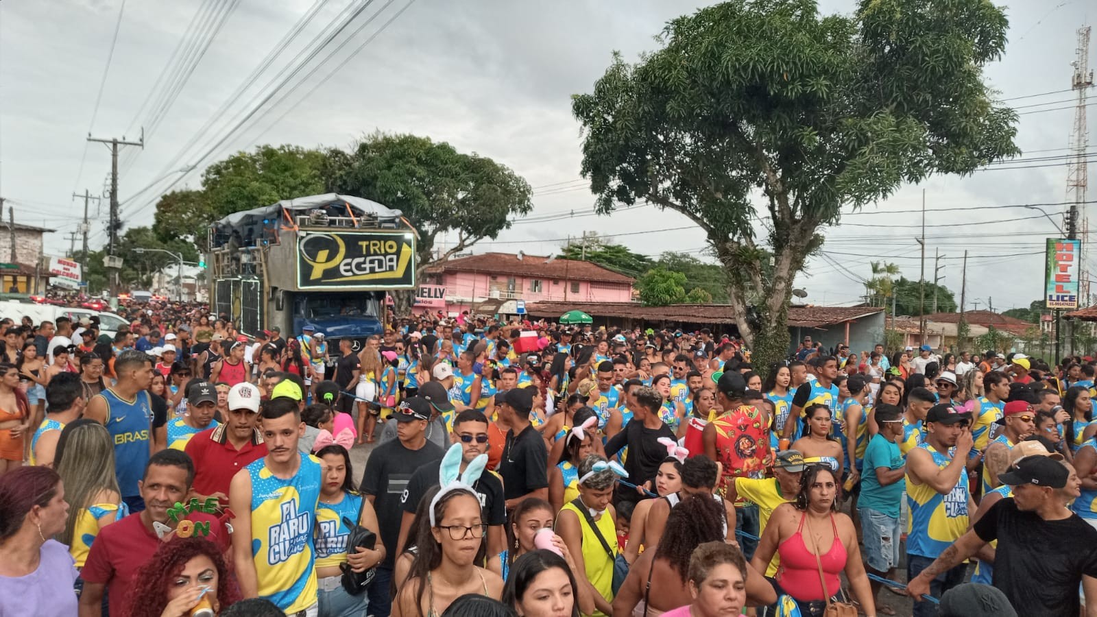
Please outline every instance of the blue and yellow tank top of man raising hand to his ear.
M938 469L948 467L951 459L929 444L919 444L934 457ZM941 552L968 531L968 474L948 494L942 495L928 484L915 484L911 472L906 475L906 503L911 519L906 536L906 551L911 554L937 559Z

